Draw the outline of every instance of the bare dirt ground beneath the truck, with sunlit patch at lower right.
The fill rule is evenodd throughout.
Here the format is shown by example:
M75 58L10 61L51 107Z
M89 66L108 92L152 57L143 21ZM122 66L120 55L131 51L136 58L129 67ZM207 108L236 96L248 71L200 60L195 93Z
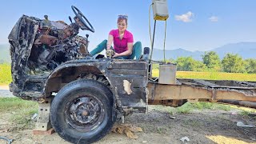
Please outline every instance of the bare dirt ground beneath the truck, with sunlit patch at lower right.
M32 130L14 130L8 116L0 112L0 136L14 139L19 143L62 143L64 141L54 133L51 135L34 135ZM256 143L256 128L236 126L237 122L256 125L255 115L242 116L236 111L203 110L192 114L170 114L164 110L154 110L149 107L147 114L132 114L126 118L126 123L139 126L143 132L135 133L138 139L127 138L124 134L107 134L98 144L115 143L183 143L180 138L187 137L189 142L184 143ZM0 143L6 141L0 140Z

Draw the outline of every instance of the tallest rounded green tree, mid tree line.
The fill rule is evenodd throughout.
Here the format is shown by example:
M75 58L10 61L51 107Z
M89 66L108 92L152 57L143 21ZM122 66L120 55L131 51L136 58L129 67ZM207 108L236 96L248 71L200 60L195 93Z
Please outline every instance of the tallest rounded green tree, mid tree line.
M221 70L221 60L214 51L205 52L205 54L202 55L202 62L206 64L209 70Z

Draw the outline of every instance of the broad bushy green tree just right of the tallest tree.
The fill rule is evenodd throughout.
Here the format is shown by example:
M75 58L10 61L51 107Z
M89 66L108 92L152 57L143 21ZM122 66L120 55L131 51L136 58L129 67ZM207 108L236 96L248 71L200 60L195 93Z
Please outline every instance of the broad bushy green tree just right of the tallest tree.
M222 59L222 68L225 72L229 73L245 73L246 62L238 54L226 54Z

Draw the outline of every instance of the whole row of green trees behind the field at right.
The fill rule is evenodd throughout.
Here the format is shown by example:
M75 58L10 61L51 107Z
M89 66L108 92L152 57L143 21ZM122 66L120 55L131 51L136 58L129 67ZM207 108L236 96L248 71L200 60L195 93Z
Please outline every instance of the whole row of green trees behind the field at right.
M177 64L179 71L216 71L227 73L256 73L256 59L242 59L238 54L226 54L220 59L214 51L202 54L202 61L192 57L179 57L176 60L170 59L169 62Z

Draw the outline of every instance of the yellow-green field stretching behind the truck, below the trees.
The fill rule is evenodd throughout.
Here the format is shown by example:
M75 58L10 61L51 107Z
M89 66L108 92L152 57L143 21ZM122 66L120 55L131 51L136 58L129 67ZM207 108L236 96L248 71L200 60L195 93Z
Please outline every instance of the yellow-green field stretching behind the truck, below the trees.
M152 70L153 76L159 76L159 70ZM256 82L256 74L220 73L220 72L194 72L178 71L177 78L197 78L208 80L237 80ZM0 64L0 85L8 85L11 82L10 64Z

